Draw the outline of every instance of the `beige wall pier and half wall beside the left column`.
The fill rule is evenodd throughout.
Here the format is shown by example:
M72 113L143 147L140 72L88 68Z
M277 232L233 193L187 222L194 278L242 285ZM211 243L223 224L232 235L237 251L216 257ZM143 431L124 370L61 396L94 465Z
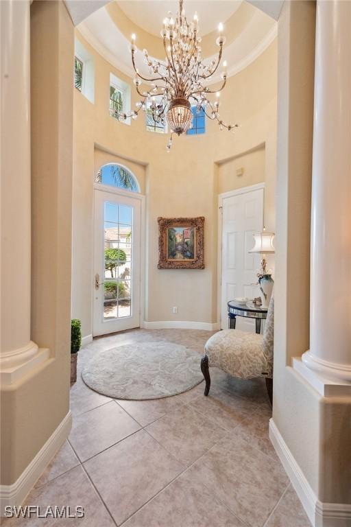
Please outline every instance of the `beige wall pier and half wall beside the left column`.
M73 24L31 6L32 328L50 358L1 387L1 484L13 484L69 412Z

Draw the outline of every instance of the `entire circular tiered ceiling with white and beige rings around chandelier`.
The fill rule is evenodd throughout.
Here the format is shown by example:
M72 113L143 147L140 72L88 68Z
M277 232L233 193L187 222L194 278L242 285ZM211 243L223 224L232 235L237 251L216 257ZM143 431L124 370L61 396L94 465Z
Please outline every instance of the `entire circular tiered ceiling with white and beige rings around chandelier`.
M143 13L140 17L142 21L133 15L136 5L139 5ZM88 16L77 28L99 54L114 67L132 77L134 72L130 60L130 35L136 34L138 54L142 55L143 49L147 48L152 58L164 60L162 38L160 34L156 34L160 31L169 8L173 9L175 14L176 6L177 1L173 0L112 1ZM213 34L218 23L223 22L227 38L223 60L228 62L228 77L247 67L276 38L276 21L245 1L185 0L184 8L186 14L191 17L197 11L203 36L202 54L209 61L213 60L217 52L215 46L212 46ZM134 16L134 19L130 19L130 16ZM228 18L225 19L225 16ZM142 25L138 25L137 21ZM153 31L149 32L149 29ZM143 64L142 58L140 62ZM219 80L220 76L213 77L213 82Z

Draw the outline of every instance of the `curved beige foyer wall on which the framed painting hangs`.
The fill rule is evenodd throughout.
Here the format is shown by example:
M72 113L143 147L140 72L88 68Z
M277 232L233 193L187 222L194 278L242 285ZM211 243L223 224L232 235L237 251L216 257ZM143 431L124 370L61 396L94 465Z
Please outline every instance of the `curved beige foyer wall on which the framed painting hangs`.
M218 126L209 122L203 136L175 137L167 154L167 137L147 132L143 114L131 126L109 117L110 72L125 82L130 80L101 58L79 32L76 36L95 60L95 104L75 91L72 315L82 319L84 336L90 335L93 176L100 162L122 159L138 176L147 196L143 225L148 240L145 320L216 323L217 163L265 145L261 180L267 184L267 227L274 229L276 42L252 65L231 78L221 95L223 116L240 124L237 132L220 132ZM137 100L132 86L132 107ZM226 189L230 187L228 182ZM197 215L205 216L206 268L158 270L158 216ZM173 306L178 307L178 314L172 313Z

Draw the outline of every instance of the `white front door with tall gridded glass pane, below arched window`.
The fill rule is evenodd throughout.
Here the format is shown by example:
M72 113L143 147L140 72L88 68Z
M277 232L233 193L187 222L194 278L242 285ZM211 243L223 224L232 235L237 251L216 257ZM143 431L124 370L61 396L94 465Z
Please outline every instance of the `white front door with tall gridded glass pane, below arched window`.
M93 334L140 325L141 200L95 190Z

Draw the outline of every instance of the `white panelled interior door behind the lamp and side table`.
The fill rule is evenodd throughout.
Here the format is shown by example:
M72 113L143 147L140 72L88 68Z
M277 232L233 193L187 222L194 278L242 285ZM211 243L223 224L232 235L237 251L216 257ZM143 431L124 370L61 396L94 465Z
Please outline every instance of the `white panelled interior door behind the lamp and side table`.
M240 193L239 193L240 192ZM220 197L221 233L221 329L228 327L227 303L239 296L258 296L257 269L260 255L248 251L254 246L253 234L263 229L263 188L235 191ZM237 329L255 331L251 318L237 317Z

